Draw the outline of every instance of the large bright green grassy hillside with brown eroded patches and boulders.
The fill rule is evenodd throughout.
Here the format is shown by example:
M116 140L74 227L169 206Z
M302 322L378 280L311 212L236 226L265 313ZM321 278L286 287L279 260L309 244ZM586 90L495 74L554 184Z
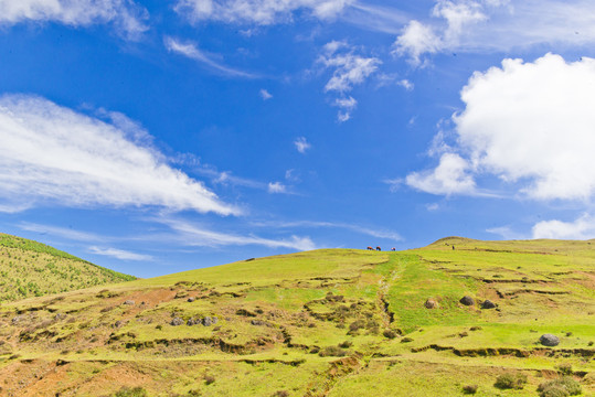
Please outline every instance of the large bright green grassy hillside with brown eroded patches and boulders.
M7 303L0 395L539 396L563 374L543 393L594 395L591 243L325 249Z

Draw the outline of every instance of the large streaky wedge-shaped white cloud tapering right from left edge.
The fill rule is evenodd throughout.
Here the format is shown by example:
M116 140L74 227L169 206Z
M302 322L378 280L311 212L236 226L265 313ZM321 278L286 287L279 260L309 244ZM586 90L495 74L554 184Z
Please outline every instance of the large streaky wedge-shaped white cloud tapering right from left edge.
M124 125L121 119L118 124ZM135 126L129 121L123 130L40 97L0 97L2 205L50 201L238 213L140 142L147 132Z

